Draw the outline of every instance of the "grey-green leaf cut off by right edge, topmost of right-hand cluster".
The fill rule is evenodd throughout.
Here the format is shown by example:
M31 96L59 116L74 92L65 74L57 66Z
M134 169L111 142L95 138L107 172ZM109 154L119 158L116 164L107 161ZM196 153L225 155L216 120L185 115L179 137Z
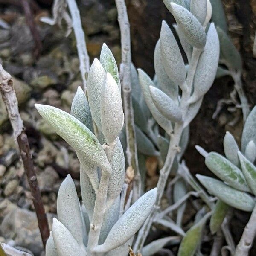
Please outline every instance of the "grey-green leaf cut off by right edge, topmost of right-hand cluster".
M241 149L245 152L245 148L250 141L256 144L256 106L250 111L249 116L244 124L242 139L241 139Z

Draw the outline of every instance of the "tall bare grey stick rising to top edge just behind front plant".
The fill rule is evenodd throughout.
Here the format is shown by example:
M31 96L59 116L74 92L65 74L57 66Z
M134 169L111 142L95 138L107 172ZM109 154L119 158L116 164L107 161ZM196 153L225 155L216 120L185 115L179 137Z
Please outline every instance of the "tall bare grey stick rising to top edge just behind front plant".
M136 201L141 194L141 179L137 156L137 144L134 127L134 111L131 98L131 36L130 24L125 6L125 0L116 0L118 22L121 32L122 63L120 65L120 78L122 84L125 129L127 140L128 165L134 169L133 201Z

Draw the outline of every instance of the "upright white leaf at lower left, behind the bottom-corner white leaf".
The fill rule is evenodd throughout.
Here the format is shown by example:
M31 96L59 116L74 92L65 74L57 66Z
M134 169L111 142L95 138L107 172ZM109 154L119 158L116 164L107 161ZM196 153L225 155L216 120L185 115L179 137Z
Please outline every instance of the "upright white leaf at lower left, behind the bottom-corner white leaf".
M83 220L76 186L70 175L61 183L57 198L58 220L70 231L74 239L83 244Z

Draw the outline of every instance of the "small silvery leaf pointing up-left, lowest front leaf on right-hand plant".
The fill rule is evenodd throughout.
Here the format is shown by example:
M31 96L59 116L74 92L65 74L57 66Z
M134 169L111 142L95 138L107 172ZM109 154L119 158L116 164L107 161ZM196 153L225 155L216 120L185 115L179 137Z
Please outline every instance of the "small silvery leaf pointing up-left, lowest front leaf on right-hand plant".
M164 92L149 86L150 94L158 111L172 122L182 122L182 113L175 102Z

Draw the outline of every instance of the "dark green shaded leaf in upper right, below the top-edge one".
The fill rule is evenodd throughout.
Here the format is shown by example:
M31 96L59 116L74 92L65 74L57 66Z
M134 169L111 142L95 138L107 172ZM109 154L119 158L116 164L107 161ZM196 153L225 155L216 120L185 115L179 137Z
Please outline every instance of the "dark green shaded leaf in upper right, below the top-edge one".
M224 58L230 69L236 71L241 70L242 60L238 50L223 30L217 27L217 31L220 40L221 57Z

